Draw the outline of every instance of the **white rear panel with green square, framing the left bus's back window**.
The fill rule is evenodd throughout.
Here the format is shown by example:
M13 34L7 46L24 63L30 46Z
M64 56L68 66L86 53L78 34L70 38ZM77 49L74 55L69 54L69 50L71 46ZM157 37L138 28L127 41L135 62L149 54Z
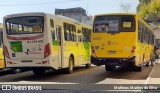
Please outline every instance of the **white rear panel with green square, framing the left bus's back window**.
M27 15L27 16L26 16ZM7 16L7 18L28 18L34 20L34 16L43 17L43 32L36 34L7 35L7 29L4 31L4 46L7 48L9 58L6 57L7 67L54 67L58 69L59 65L53 64L51 56L44 58L45 47L51 44L48 31L47 16L43 13L28 13ZM6 18L4 18L6 20ZM14 22L14 21L13 21ZM5 23L5 22L4 22ZM6 23L5 23L6 24ZM6 28L6 25L4 25ZM44 29L46 28L46 29ZM36 28L35 28L36 29ZM38 28L37 28L38 29ZM33 30L33 29L32 29ZM15 40L14 40L15 39Z

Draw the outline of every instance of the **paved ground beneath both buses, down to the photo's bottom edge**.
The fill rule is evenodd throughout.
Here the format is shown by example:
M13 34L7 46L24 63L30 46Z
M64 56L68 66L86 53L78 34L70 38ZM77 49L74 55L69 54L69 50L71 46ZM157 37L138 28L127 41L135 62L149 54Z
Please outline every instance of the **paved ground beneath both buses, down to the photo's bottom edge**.
M105 71L104 66L92 66L90 69L82 66L76 67L72 74L64 74L60 71L46 73L44 76L36 76L32 71L19 74L0 73L0 85L11 85L12 88L18 85L38 85L47 89L36 91L36 93L106 93L106 90L114 90L114 84L144 84L151 70L152 66L144 66L142 72L122 68L116 68L115 71L108 72ZM15 90L12 92L17 93ZM18 92L25 93L25 91ZM124 91L121 92L124 93ZM128 93L127 90L126 93Z

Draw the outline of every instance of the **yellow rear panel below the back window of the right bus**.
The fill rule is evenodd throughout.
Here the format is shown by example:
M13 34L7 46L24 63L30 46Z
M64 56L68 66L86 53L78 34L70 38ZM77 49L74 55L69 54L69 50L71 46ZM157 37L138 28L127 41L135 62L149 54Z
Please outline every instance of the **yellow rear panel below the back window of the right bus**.
M99 36L99 37L98 37ZM100 40L96 40L99 38ZM133 47L136 47L135 33L118 33L110 35L107 33L93 34L92 44L97 57L100 58L131 58Z

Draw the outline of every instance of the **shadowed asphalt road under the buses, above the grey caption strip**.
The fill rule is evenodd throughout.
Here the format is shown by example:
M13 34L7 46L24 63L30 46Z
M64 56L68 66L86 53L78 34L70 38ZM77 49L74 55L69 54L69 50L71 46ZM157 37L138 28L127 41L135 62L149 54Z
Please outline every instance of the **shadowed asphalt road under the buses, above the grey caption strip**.
M43 76L36 76L32 71L19 74L0 73L0 82L50 82L76 84L144 84L152 66L144 66L142 72L116 68L115 71L105 71L104 66L76 67L72 74L61 71L49 72Z

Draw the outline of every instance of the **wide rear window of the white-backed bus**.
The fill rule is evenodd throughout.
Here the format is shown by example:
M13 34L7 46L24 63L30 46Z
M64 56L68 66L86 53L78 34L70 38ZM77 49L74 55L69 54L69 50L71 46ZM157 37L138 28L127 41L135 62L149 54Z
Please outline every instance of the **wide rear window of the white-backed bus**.
M25 16L14 17L5 20L8 35L42 33L44 17Z

